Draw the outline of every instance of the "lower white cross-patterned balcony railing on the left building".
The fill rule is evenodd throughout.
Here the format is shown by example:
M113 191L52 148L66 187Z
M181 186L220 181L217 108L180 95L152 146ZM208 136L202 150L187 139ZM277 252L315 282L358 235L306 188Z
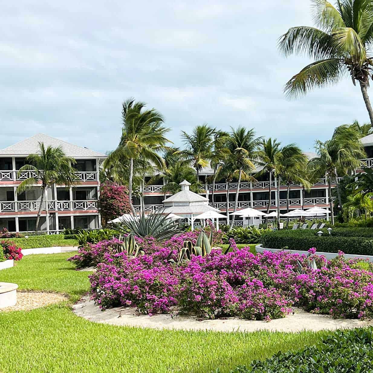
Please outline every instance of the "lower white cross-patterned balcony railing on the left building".
M97 200L88 201L43 201L41 210L45 211L48 203L50 211L88 211L97 210ZM40 201L0 201L0 213L37 212Z

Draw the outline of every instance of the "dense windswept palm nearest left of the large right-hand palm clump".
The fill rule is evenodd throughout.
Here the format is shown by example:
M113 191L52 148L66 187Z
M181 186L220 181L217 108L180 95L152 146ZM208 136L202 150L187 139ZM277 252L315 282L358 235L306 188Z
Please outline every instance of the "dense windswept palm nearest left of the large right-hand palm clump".
M277 225L280 228L280 185L281 181L297 181L308 188L309 183L304 177L307 157L295 144L285 145L275 154L275 178L277 182Z

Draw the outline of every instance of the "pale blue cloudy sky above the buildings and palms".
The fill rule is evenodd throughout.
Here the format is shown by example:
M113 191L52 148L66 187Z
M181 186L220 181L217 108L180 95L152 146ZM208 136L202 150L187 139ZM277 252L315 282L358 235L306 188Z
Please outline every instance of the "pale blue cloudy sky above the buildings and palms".
M0 149L42 132L112 150L134 97L163 114L176 146L181 130L208 123L313 151L336 126L369 117L350 78L285 98L310 61L285 59L277 40L312 24L309 0L3 1Z

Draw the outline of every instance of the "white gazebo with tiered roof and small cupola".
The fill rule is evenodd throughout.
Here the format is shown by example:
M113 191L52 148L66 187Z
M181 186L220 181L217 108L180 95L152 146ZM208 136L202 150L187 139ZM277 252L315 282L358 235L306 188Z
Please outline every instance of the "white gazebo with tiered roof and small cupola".
M163 201L164 207L160 211L161 214L182 216L184 219L188 219L193 230L194 220L197 215L207 211L220 212L220 210L209 205L208 198L191 192L189 190L191 184L188 181L184 180L179 185L181 186L181 191Z

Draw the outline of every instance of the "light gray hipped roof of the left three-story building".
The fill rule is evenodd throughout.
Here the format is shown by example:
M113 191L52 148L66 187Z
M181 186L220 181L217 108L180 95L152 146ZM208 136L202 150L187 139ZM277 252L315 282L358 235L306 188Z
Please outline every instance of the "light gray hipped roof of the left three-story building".
M0 156L28 156L38 152L38 142L44 142L44 145L53 147L62 147L66 156L74 158L104 158L105 154L90 150L78 145L70 144L69 142L59 140L44 134L37 134L26 140L17 142L3 150L0 150Z

